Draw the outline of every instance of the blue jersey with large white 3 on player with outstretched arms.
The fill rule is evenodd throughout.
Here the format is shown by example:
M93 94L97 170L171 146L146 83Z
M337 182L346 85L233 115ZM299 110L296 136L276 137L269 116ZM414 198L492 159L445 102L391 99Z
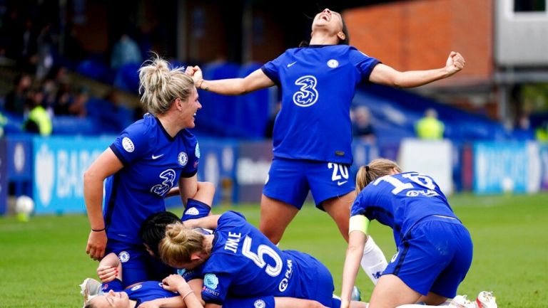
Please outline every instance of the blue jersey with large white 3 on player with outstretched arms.
M379 60L347 45L288 49L263 65L281 87L274 156L352 164L350 103Z

